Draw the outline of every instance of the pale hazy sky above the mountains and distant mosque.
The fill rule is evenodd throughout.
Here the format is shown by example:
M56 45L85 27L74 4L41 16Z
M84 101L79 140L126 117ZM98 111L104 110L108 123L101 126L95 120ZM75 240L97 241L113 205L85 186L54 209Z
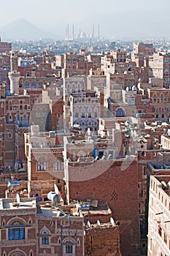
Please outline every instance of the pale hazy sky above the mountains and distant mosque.
M135 15L138 12L143 15L139 16L140 20L134 20L134 23L139 22L140 26L147 12L150 26L155 26L152 17L155 20L161 18L163 12L169 8L169 0L1 0L0 27L19 18L26 18L41 28L55 29L58 34L61 34L61 31L65 33L67 23L74 23L75 33L80 27L82 30L92 31L93 23L100 23L101 34L104 34L104 31L107 33L108 28L113 25L128 23L128 15L131 16L129 22L133 26L133 15L134 19L138 19L138 15ZM117 13L120 13L116 16L117 24L112 24L112 17Z

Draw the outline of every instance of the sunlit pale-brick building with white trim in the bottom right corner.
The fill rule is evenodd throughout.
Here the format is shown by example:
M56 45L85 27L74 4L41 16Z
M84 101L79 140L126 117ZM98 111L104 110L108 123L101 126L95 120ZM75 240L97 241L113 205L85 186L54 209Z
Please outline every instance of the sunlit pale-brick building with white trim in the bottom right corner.
M150 176L147 255L169 255L169 175Z

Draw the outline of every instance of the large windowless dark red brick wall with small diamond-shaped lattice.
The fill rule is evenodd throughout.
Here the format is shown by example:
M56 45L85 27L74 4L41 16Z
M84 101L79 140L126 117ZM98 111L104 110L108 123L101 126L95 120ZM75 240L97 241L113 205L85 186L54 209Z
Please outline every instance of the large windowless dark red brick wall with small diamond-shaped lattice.
M68 162L67 175L66 190L69 191L69 197L107 200L115 221L120 224L121 252L123 255L139 255L136 159Z

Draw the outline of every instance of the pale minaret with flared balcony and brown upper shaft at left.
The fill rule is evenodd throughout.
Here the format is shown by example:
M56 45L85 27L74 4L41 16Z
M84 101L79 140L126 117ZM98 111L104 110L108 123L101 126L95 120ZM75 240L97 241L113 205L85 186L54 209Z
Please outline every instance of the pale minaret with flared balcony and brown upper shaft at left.
M19 94L20 72L18 72L18 56L13 52L10 56L10 65L11 71L8 73L10 80L10 93Z

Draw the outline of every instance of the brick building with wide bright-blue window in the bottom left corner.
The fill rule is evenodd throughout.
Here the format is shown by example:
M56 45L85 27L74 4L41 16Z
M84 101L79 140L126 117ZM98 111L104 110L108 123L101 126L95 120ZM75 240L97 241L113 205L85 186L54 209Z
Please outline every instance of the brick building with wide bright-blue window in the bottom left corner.
M36 255L36 200L0 200L1 255Z

